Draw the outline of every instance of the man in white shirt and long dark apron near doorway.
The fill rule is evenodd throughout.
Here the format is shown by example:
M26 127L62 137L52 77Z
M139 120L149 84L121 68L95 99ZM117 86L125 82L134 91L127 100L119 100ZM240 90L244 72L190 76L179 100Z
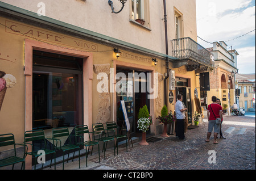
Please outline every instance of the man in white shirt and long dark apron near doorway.
M179 139L185 140L184 134L184 119L185 119L185 111L187 108L184 107L182 102L183 96L181 94L177 95L177 102L175 104L175 112L176 112L176 119L177 119L177 127L176 127L176 137Z

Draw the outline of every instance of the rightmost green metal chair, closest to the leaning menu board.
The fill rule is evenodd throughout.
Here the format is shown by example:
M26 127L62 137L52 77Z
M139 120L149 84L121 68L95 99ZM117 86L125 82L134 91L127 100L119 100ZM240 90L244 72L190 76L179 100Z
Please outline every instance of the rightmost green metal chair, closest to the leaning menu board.
M117 142L115 143L115 146L117 147L117 154L118 154L118 139L120 138L125 138L126 141L126 152L127 150L127 134L118 134L118 127L117 124L113 121L113 122L107 122L107 129L108 129L108 137L114 137L117 138ZM126 131L126 129L122 129L123 131ZM114 134L110 135L110 131L112 131Z

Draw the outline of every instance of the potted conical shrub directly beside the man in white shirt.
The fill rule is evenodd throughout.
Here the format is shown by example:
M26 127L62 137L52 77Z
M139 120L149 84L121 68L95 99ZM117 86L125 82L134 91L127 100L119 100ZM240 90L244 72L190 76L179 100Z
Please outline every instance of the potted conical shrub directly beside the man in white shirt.
M175 117L172 114L172 111L170 111L168 113L167 107L166 107L166 105L164 105L161 110L161 116L158 116L157 119L159 120L159 123L164 124L164 130L163 130L163 134L161 134L161 136L169 137L167 134L167 124L172 123L172 121L175 121Z

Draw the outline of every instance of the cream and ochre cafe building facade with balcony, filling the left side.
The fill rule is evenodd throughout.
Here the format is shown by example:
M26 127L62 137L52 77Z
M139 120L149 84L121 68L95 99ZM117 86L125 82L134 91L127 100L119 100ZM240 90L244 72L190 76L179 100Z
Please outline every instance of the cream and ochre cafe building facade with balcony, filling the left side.
M122 7L117 0L113 6ZM6 0L0 31L0 76L11 79L1 97L0 134L14 133L16 142L32 129L51 137L56 127L122 126L121 100L134 136L144 105L153 117L148 133L159 134L156 117L164 104L175 110L177 94L191 124L197 75L214 65L196 43L195 0L129 0L118 14L106 1ZM27 157L26 168L31 164Z

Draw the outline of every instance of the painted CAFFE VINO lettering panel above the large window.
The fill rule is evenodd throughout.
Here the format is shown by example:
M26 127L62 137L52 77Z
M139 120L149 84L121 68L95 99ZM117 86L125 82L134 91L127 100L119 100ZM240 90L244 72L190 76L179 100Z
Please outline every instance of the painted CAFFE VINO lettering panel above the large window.
M6 20L6 32L13 33L15 35L32 37L34 39L44 40L51 43L57 43L68 47L81 48L92 51L98 50L98 45L90 43L88 41L81 41L72 37L63 36L57 33L52 33L38 28L11 22L9 20Z

